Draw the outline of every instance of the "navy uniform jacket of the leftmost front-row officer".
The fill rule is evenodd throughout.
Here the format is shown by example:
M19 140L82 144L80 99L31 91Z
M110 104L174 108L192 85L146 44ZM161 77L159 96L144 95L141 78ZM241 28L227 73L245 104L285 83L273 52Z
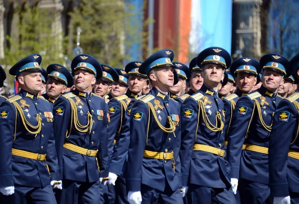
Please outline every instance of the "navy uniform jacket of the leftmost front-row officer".
M19 109L22 111L20 114ZM42 188L50 184L50 180L59 179L57 155L53 137L52 106L48 101L34 96L24 90L0 106L0 187L14 184ZM21 116L22 115L22 116ZM41 131L29 133L21 117L32 126L37 126L36 117L41 118ZM27 125L29 126L29 125ZM37 129L28 127L32 132ZM11 155L12 148L31 153L46 154L46 161L38 161ZM49 172L46 165L48 165Z

